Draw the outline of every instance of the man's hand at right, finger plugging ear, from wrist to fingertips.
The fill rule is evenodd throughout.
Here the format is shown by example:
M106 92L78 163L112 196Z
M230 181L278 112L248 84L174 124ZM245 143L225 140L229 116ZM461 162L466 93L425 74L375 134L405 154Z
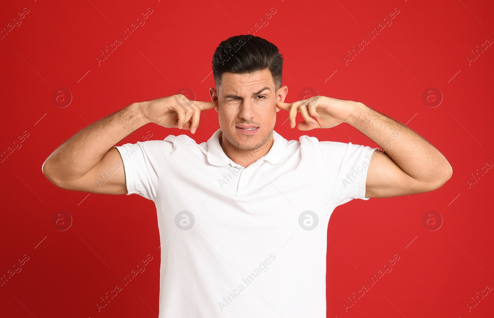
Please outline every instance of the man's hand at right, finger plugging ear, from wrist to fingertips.
M337 100L325 96L313 96L291 104L277 100L276 104L281 109L289 111L288 120L291 128L295 127L297 112L302 114L305 121L298 123L297 128L299 130L338 126L343 122L347 122L360 105L358 102Z

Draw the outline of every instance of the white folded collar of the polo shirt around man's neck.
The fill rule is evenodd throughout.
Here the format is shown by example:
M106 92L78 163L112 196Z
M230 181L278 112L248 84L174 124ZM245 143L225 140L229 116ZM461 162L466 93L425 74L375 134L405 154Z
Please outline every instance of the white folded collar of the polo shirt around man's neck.
M207 161L211 165L224 166L233 163L221 148L219 144L219 135L221 128L218 129L207 141ZM268 153L262 157L272 164L277 164L283 159L287 147L287 140L273 130L273 145Z

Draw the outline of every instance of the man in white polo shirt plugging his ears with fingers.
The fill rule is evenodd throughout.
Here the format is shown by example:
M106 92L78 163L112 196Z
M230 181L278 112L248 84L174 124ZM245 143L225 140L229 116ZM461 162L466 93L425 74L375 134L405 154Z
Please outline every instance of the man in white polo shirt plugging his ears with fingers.
M212 102L179 94L134 103L75 134L42 171L65 189L155 202L160 318L326 317L334 208L438 189L452 168L408 127L362 103L324 96L285 103L282 55L263 38L222 41L212 65ZM220 129L207 142L168 135L113 146L147 123L195 133L210 108ZM297 112L299 130L346 122L385 152L308 136L288 141L273 130L282 109L292 128Z

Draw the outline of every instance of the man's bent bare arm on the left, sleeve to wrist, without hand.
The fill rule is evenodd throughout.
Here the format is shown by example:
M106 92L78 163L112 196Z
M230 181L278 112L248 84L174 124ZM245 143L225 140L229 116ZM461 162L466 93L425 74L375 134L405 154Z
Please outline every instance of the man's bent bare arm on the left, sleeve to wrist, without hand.
M125 194L124 164L113 146L149 121L134 103L90 124L61 144L44 161L43 174L69 190ZM110 174L108 173L110 172ZM98 182L106 176L104 184Z

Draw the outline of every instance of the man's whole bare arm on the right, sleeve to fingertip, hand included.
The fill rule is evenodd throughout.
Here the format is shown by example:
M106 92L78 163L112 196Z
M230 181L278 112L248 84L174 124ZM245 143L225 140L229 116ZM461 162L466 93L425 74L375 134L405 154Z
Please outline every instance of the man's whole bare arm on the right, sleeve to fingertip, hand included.
M365 197L428 192L440 188L453 175L450 163L433 145L412 129L363 103L313 96L291 104L277 101L277 106L289 111L292 128L296 125L297 112L304 117L296 125L300 130L331 128L346 122L384 149L372 153Z

